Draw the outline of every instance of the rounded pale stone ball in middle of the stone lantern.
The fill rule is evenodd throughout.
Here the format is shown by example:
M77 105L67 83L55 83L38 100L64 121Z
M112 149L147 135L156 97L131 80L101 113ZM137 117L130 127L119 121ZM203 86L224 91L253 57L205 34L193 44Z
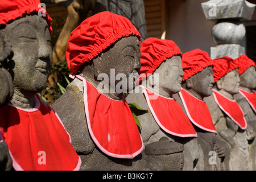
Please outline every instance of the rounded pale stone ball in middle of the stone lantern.
M245 36L242 23L222 22L214 25L212 37L217 44L240 44Z

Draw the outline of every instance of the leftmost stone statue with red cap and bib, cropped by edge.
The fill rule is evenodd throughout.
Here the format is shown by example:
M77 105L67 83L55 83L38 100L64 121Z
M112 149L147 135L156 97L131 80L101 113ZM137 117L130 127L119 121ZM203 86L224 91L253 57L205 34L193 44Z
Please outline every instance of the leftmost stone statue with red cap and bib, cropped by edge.
M46 86L52 63L51 18L38 15L39 3L0 3L0 36L12 46L3 57L14 85L10 102L0 107L0 140L7 144L15 170L77 170L81 160L67 131L37 94ZM0 152L2 156L2 148Z

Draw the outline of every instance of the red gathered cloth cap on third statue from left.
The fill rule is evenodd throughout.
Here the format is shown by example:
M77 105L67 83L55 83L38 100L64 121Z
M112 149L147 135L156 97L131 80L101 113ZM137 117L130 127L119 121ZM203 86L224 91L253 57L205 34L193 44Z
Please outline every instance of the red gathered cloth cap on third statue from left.
M141 71L139 79L152 74L166 59L180 55L180 48L172 40L147 38L141 43Z

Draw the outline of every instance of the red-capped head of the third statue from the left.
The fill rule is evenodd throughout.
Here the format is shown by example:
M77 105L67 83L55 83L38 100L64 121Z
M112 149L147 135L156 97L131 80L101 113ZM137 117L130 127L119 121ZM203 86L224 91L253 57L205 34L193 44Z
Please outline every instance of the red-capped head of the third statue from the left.
M166 97L180 91L183 77L182 53L172 40L148 38L141 44L141 55L140 80L152 75L152 84L158 82L159 93Z

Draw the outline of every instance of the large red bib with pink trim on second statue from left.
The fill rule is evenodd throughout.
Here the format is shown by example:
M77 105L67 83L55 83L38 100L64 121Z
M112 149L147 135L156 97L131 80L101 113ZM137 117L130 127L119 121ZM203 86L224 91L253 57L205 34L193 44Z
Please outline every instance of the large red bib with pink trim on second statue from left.
M76 77L83 81L87 125L98 148L114 158L132 159L140 154L141 134L125 99L108 98L81 76Z

